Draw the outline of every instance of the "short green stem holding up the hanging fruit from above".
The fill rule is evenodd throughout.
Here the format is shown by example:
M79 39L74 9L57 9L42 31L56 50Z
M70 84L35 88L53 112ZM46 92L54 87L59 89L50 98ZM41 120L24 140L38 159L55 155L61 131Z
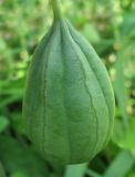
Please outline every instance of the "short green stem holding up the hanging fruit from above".
M50 0L50 2L53 9L54 20L60 20L62 18L62 13L59 0Z

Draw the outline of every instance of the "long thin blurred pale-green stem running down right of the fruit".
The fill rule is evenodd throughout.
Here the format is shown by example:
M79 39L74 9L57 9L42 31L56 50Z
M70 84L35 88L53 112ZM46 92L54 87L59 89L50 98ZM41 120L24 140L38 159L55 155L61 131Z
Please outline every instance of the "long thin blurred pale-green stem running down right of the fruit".
M128 115L125 111L125 106L126 106L126 88L124 85L125 82L125 77L124 77L124 53L123 51L125 50L125 44L122 41L122 35L118 29L118 24L117 24L117 19L116 19L116 10L114 9L115 7L115 1L111 0L111 11L112 11L112 25L113 25L113 31L114 31L114 39L115 39L115 43L117 43L117 45L120 46L118 51L116 51L116 63L115 63L115 70L116 70L116 80L115 80L115 92L116 92L116 96L117 96L117 101L120 104L120 111L122 114L122 118L123 118L123 126L124 126L124 131L128 131L129 128L129 122L128 122ZM113 7L113 8L112 8ZM118 73L118 74L117 74ZM118 86L116 86L118 85ZM121 91L118 87L122 87L123 90ZM123 92L123 93L122 93ZM121 96L123 95L123 96Z

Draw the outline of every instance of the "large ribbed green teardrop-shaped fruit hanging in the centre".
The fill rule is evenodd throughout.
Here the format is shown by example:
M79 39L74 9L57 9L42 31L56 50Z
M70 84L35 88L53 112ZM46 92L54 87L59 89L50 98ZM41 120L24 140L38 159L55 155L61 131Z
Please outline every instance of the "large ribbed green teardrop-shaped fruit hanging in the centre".
M33 54L23 101L29 138L51 163L80 164L111 138L114 94L94 49L55 20Z

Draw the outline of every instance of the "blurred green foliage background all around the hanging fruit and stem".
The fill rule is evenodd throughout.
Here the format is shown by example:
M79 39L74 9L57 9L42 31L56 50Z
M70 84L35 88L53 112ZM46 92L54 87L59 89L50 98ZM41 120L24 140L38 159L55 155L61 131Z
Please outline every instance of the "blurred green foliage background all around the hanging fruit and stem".
M22 98L31 55L52 23L52 10L48 0L0 0L0 177L135 177L135 1L61 2L110 73L113 138L82 165L60 167L34 152L23 131Z

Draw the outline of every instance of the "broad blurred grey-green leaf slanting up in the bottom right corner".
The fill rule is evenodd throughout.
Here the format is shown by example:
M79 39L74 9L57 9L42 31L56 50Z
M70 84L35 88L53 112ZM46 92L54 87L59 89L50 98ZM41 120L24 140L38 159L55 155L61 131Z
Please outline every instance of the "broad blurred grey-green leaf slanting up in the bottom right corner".
M106 169L103 177L125 177L133 167L134 163L134 156L127 150L122 150Z

